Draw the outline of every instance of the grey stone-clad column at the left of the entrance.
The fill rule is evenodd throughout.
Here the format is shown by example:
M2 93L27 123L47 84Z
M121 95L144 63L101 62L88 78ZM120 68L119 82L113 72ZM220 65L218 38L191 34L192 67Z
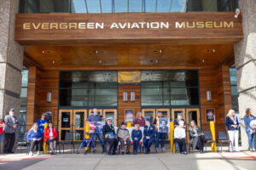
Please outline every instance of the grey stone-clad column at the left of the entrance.
M20 111L23 47L14 40L18 9L19 0L0 1L0 118L10 108L15 108L17 117Z

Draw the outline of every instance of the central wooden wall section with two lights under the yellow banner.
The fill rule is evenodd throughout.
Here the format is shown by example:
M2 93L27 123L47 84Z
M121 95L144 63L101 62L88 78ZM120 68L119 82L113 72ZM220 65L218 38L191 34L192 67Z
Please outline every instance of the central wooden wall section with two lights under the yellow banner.
M123 92L128 93L128 101L123 101ZM135 92L135 102L131 102L131 92ZM140 85L119 85L119 125L125 121L125 109L134 109L134 116L141 110L141 88Z

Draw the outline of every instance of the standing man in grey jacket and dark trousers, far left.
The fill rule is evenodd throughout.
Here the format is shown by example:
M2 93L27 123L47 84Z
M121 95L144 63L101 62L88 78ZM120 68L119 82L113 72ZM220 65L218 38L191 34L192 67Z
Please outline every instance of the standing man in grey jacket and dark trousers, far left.
M15 109L9 110L9 115L4 117L4 123L6 127L4 128L4 153L14 153L13 147L15 144L15 131L18 126L18 119L15 116Z

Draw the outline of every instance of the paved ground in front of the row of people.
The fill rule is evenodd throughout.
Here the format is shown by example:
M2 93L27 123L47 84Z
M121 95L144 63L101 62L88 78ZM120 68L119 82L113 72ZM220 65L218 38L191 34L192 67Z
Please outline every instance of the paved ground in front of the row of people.
M205 154L164 152L137 156L106 156L101 153L76 155L65 154L50 156L27 156L26 154L0 155L0 170L168 170L168 169L255 169L256 152L240 153L208 152Z

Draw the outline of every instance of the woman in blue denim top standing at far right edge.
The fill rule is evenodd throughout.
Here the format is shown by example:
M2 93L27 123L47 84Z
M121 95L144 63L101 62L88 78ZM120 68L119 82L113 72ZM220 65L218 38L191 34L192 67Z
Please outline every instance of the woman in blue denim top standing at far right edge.
M246 115L244 116L243 120L246 125L246 132L247 132L248 142L249 142L249 150L255 151L256 129L253 129L250 126L250 122L255 120L255 116L252 115L252 110L250 108L247 108Z

